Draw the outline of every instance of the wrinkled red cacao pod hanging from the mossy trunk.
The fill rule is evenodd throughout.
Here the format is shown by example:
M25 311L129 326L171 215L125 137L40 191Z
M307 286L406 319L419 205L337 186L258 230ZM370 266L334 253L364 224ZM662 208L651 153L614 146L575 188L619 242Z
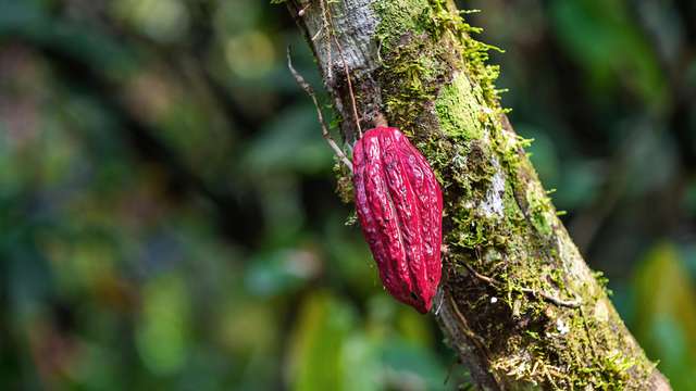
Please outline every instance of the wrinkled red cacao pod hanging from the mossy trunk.
M353 148L356 210L382 283L430 311L442 275L443 194L427 161L399 129L368 130Z

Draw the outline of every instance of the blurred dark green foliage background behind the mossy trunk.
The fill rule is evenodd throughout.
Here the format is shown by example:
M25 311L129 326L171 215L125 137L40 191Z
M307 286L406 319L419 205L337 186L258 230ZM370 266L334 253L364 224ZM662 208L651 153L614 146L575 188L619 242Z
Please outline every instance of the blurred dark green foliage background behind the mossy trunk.
M696 390L695 4L460 2L506 50L512 123L676 390ZM0 0L0 389L465 380L347 224L288 45L319 87L270 1Z

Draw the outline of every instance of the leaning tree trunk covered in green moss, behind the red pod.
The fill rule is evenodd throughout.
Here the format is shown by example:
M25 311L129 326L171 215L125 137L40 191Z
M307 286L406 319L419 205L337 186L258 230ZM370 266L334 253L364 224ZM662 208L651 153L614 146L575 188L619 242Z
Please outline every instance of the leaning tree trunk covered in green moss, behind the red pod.
M438 176L446 251L433 312L476 386L669 390L557 217L500 106L493 48L471 38L453 2L286 2L346 144L357 135L350 80L362 127L386 117Z

